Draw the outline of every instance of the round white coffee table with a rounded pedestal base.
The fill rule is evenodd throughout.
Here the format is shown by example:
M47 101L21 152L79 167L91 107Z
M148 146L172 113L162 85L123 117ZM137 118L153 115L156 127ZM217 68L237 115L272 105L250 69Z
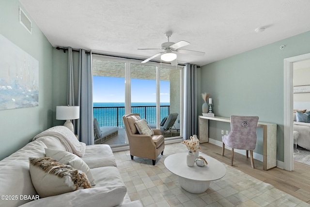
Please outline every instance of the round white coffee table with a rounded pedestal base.
M204 157L208 165L203 167L197 166L188 167L186 164L187 153L176 153L168 156L165 159L167 169L178 175L181 187L191 193L202 193L209 188L212 180L218 180L226 174L225 166L200 152L200 156Z

